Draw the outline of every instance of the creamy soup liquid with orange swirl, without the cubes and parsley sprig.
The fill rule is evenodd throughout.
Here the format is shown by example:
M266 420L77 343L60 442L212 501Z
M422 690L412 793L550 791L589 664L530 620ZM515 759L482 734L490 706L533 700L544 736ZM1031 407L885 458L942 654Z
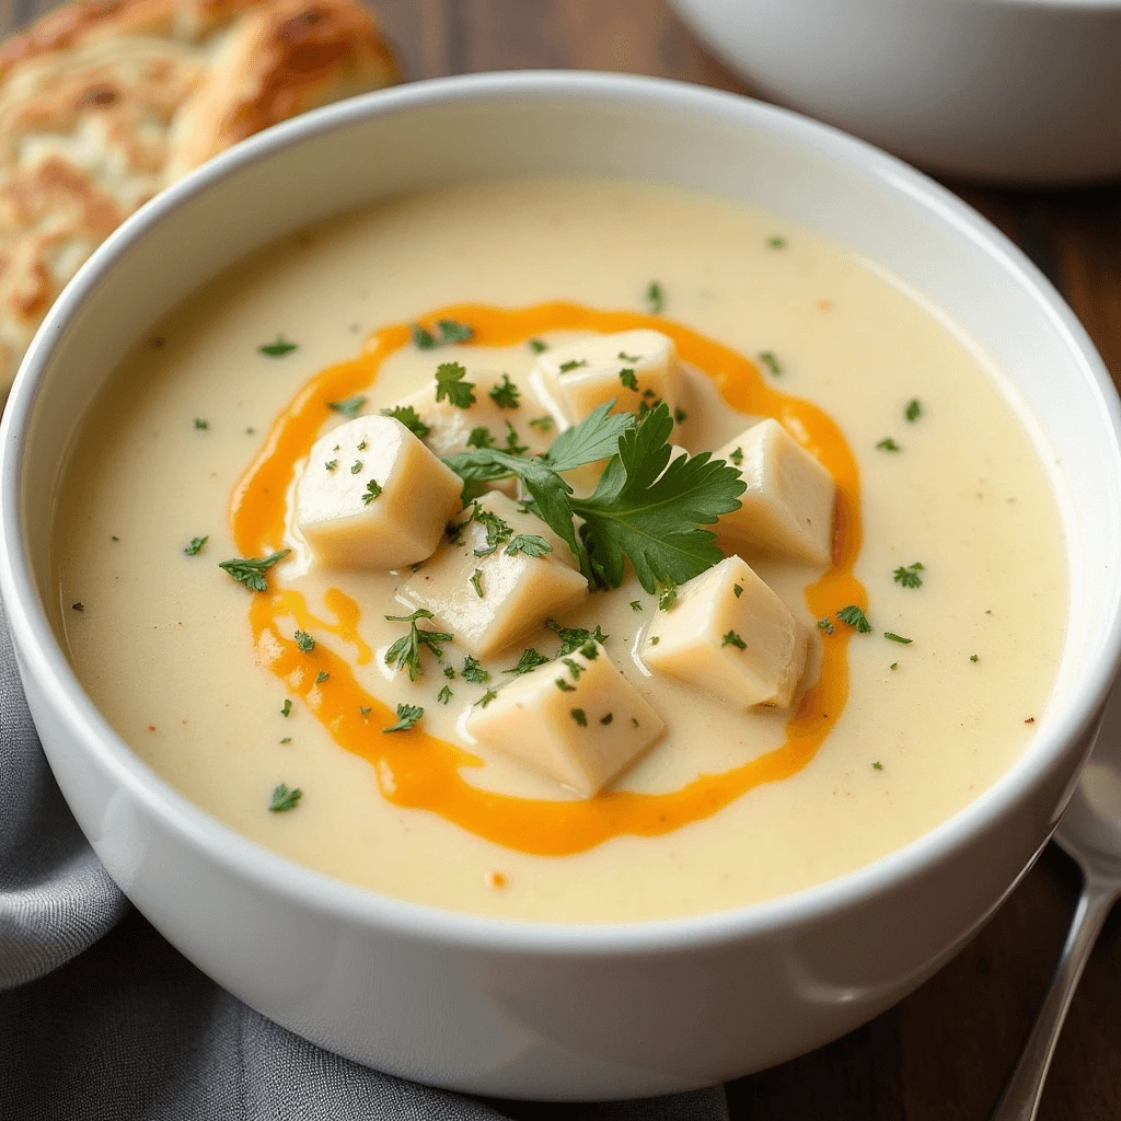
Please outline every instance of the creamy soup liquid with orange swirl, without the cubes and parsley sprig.
M451 305L478 321L470 343L420 349L406 328L385 330L429 324ZM517 308L528 311L503 311ZM411 574L316 562L291 525L307 450L284 461L284 433L311 400L306 387L351 387L363 400L350 411L378 414L454 361L469 378L507 372L520 390L515 432L541 438L529 420L545 408L528 379L541 345L659 323L683 358L702 359L686 370L673 436L688 452L758 419L736 404L777 402L804 442L800 417L832 418L835 460L851 467L839 479L851 524L839 525L837 548L849 541L854 568L837 569L840 554L824 577L819 565L751 558L810 632L802 702L789 711L738 711L651 676L638 650L658 596L632 574L566 614L565 627L609 636L603 649L667 725L611 793L578 799L473 742L466 726L489 692L519 679L503 671L521 649L553 657L556 634L540 629L466 677L454 640L443 660L421 651L415 682L388 666L408 624L385 617L416 606L404 587ZM309 438L348 419L316 407ZM271 544L258 535L257 552L262 503L285 525ZM984 356L843 248L766 214L631 183L447 188L254 254L180 306L111 379L78 434L56 534L76 671L168 782L328 874L525 919L716 910L900 847L1022 751L1066 620L1056 502ZM281 546L291 552L269 569L268 592L217 567ZM815 626L824 593L815 600L813 589L831 573L828 586L845 592L833 606L861 603L868 632L835 611ZM296 629L312 651L289 646ZM313 667L322 680L305 674ZM359 696L370 698L361 710ZM832 712L817 712L823 700ZM398 704L424 708L423 732L365 728ZM444 793L425 786L429 760L444 767ZM686 796L729 775L745 777L720 787L726 796ZM300 798L270 812L279 784Z

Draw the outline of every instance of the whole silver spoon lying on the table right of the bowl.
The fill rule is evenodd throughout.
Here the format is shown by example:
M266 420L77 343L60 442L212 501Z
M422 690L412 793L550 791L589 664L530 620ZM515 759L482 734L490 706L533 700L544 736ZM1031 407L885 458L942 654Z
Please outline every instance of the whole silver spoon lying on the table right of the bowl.
M1082 869L1082 896L1035 1027L989 1121L1035 1121L1071 998L1121 897L1121 689L1106 704L1093 754L1055 840Z

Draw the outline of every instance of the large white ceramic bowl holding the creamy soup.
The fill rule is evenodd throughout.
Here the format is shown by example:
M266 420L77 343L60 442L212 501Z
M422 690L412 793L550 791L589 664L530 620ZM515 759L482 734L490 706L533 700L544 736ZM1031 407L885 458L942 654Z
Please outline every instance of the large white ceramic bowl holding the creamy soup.
M325 215L435 183L547 172L697 188L846 241L989 350L1047 462L1062 462L1071 626L1038 734L992 789L876 864L760 906L631 925L500 921L383 898L295 867L180 797L94 708L48 624L67 445L106 372L158 316L247 251ZM1119 406L1074 316L1000 233L918 173L791 113L687 85L447 78L254 137L94 254L33 344L0 435L0 591L47 757L110 873L187 957L266 1016L461 1090L682 1090L876 1016L976 932L1046 842L1118 659Z

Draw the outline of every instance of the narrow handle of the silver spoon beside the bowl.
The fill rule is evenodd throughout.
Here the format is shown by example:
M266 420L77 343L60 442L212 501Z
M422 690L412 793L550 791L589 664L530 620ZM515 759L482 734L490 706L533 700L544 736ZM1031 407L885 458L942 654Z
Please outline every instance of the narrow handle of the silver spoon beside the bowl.
M1043 1008L989 1121L1035 1121L1071 998L1115 899L1114 884L1097 883L1087 876Z

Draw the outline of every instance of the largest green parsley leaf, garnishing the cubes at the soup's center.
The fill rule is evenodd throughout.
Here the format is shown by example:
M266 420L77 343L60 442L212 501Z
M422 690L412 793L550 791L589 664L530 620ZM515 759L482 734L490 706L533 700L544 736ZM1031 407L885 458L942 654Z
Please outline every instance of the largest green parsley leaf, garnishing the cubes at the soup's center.
M708 452L670 462L673 428L669 409L659 404L637 429L622 434L594 493L569 502L584 519L581 539L605 587L622 583L624 558L651 593L658 582L684 584L723 559L715 535L703 527L738 510L747 487L734 467ZM543 517L553 526L545 511Z

